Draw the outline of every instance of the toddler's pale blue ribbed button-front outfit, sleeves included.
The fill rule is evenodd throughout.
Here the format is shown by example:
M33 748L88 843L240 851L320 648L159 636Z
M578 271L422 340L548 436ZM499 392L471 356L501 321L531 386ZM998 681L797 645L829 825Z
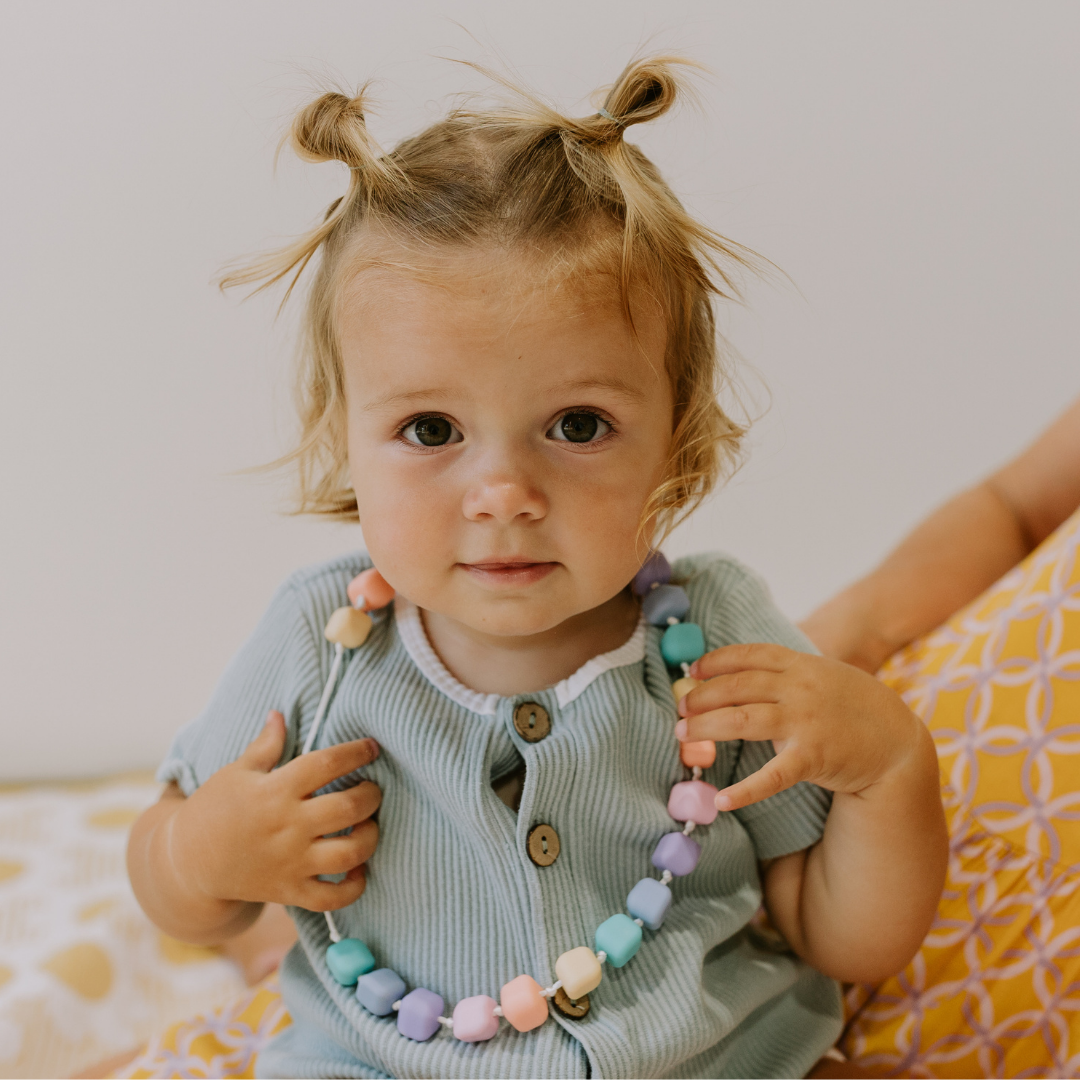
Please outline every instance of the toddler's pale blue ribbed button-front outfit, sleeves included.
M298 753L332 661L322 627L368 565L360 555L336 559L278 591L206 711L177 735L160 779L190 794L240 755L271 708L288 723L284 760ZM811 649L734 561L696 556L676 563L675 573L710 648ZM644 660L603 670L566 705L551 689L497 698L485 715L436 689L404 648L392 610L379 616L367 643L347 653L319 738L326 746L373 735L382 748L364 770L382 788L379 848L364 895L336 915L342 934L365 941L410 988L441 994L448 1010L476 994L498 998L523 972L549 985L559 954L592 947L596 927L625 909L634 883L658 876L649 859L673 828L671 786L686 777L660 635L648 627ZM551 716L541 742L514 729L523 701ZM771 755L768 743L721 743L704 779L724 786ZM515 814L491 779L518 759L527 772ZM624 968L605 967L585 1018L552 1009L541 1028L521 1034L503 1023L489 1042L459 1042L448 1031L413 1042L393 1018L365 1012L326 969L323 917L294 909L300 945L282 985L295 1023L262 1053L258 1075L804 1076L839 1035L838 988L797 959L759 948L746 924L760 903L757 860L815 842L828 807L828 793L801 784L720 814L694 834L701 860L672 882L663 929L646 931ZM548 867L526 854L539 822L562 841Z

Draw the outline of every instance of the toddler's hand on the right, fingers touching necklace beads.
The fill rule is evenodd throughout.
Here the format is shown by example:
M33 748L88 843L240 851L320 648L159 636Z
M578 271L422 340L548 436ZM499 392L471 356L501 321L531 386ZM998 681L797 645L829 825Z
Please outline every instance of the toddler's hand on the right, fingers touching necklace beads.
M679 740L772 740L777 756L716 796L720 810L758 802L801 780L858 794L921 751L918 717L873 675L779 645L731 645L690 669L707 679L679 702Z

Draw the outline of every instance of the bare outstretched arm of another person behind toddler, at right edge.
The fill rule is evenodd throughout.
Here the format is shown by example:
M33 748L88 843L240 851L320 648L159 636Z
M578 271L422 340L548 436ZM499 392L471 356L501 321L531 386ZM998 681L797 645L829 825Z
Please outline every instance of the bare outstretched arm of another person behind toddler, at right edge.
M825 656L876 671L994 584L1077 507L1080 399L1015 460L934 511L802 630Z

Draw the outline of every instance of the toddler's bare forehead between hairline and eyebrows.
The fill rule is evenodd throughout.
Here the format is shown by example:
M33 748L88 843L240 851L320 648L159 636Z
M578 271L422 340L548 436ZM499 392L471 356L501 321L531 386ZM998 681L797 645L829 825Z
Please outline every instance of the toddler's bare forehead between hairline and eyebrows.
M469 378L663 380L665 326L644 291L633 326L611 274L491 248L380 254L339 291L337 336L355 387Z

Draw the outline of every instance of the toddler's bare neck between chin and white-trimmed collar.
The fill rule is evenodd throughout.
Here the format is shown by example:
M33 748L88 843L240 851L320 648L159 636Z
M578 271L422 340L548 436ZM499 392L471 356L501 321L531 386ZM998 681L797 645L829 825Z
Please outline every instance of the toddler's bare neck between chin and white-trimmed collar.
M428 640L447 671L473 690L503 697L554 686L593 657L619 648L634 633L638 613L637 602L624 589L541 634L496 637L420 610Z

